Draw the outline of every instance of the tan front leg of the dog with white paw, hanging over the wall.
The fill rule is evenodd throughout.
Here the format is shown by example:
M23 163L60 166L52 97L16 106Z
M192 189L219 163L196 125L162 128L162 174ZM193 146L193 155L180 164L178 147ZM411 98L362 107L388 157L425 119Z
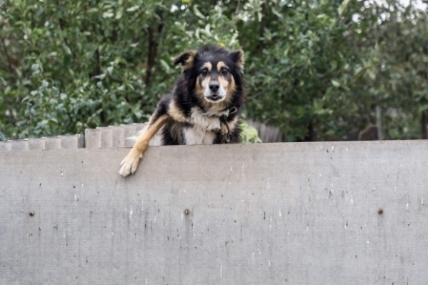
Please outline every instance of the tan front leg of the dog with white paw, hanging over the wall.
M125 177L129 174L134 174L139 160L143 157L147 146L149 146L149 141L164 126L166 120L169 118L166 114L159 116L156 113L151 117L148 126L146 126L144 131L136 139L136 143L131 151L129 151L129 154L121 161L121 169L119 170L121 176Z

